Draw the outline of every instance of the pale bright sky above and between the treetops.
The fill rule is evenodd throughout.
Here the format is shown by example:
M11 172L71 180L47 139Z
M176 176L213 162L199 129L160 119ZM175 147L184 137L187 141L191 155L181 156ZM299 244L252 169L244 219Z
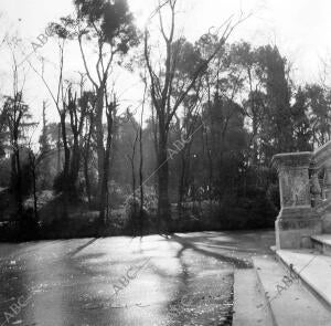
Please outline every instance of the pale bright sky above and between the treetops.
M197 39L211 27L218 27L231 14L252 13L252 17L236 29L231 41L244 39L253 44L277 44L296 67L299 82L318 78L321 59L328 59L331 49L331 1L328 0L181 0L180 22L184 34L191 41ZM154 0L129 0L137 24L143 27L154 8ZM50 21L73 11L72 0L0 0L2 25L18 31L26 46ZM3 31L4 29L1 28ZM54 48L45 44L43 55L54 60ZM331 57L331 55L330 55ZM73 69L82 64L81 57L72 53ZM8 66L7 66L8 67ZM6 66L0 69L6 70ZM26 81L28 102L40 114L40 103L46 92L35 76ZM135 77L132 77L135 82ZM3 84L3 82L2 82ZM126 76L126 85L128 85ZM38 87L38 91L35 90ZM129 94L128 94L129 95Z

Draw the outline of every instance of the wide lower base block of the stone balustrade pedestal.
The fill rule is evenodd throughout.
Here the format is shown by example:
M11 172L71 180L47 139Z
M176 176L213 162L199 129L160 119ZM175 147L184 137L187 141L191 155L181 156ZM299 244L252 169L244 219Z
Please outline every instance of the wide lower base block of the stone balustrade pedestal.
M297 211L298 213L298 211ZM312 248L311 235L322 233L321 219L312 210L307 210L302 214L292 211L281 211L275 222L276 227L276 248L300 249Z

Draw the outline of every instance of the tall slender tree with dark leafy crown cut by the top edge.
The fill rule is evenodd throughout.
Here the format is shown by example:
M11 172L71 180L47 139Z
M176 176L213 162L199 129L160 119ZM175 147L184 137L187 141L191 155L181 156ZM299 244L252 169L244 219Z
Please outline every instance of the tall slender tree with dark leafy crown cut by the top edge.
M94 87L96 94L95 109L95 132L96 151L98 162L98 191L97 199L99 206L100 220L104 220L105 200L105 162L110 164L107 150L110 150L111 135L104 133L104 112L107 117L107 132L113 132L113 106L117 106L114 101L107 99L107 82L116 63L121 60L131 46L138 44L138 35L132 23L134 17L129 11L127 1L92 1L86 3L75 0L76 18L67 19L77 32L77 40L81 54L86 71L86 75ZM87 60L86 45L96 45L96 57ZM87 42L86 42L87 41ZM117 60L116 60L117 57ZM107 104L107 102L109 102ZM110 106L109 106L110 105ZM108 140L110 141L108 144ZM109 146L109 148L108 148ZM106 188L105 188L106 187Z

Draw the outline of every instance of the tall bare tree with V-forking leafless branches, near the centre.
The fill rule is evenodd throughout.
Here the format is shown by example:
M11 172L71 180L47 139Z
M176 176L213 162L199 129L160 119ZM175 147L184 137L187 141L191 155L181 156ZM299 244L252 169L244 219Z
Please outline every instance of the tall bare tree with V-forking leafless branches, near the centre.
M235 27L243 21L241 18L233 23L232 19L228 19L223 24L223 33L218 40L218 44L207 57L201 57L197 62L194 71L186 75L186 78L179 82L175 76L180 71L180 56L183 53L185 42L182 38L175 38L175 10L177 0L169 0L164 4L159 2L158 18L161 39L166 48L166 57L162 63L159 63L157 67L153 64L154 57L151 53L151 46L149 45L149 31L146 28L145 31L145 60L149 73L150 80L150 93L152 98L152 105L156 109L158 119L158 133L157 133L157 157L158 157L158 217L159 222L166 222L169 225L170 221L170 202L169 202L169 165L168 165L168 137L170 124L182 105L184 98L190 91L194 87L197 78L206 71L209 64L213 61L216 54L222 50L226 40L231 35ZM166 30L163 14L168 10L170 15L170 28ZM160 223L159 223L160 225Z

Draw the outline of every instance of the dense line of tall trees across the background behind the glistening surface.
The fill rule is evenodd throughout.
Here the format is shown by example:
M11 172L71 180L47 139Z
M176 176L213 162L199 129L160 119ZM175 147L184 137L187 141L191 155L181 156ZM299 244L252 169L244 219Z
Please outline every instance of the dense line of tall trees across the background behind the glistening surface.
M47 122L43 102L42 125L24 102L19 44L4 42L13 90L0 106L0 186L9 188L11 215L23 219L32 196L39 221L39 193L53 189L63 220L82 203L102 225L124 206L140 232L148 215L159 232L190 229L188 218L202 229L273 225L279 203L271 157L330 140L330 90L296 83L275 45L231 43L247 17L188 41L178 6L160 2L141 31L126 0L75 0L75 14L47 27L57 75L47 80L43 60L24 63L57 111L57 122ZM65 75L68 44L79 49L78 80ZM135 108L111 81L125 64L142 85Z

